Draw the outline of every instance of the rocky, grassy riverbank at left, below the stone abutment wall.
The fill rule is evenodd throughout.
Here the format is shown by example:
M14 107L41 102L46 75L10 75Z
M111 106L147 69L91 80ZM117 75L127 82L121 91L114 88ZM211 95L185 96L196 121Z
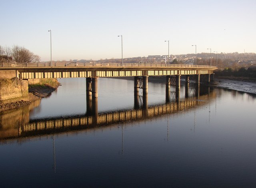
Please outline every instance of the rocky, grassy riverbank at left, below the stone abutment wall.
M30 105L31 102L50 95L58 86L60 83L57 79L40 79L40 82L28 85L28 97L10 100L6 103L0 101L0 112Z

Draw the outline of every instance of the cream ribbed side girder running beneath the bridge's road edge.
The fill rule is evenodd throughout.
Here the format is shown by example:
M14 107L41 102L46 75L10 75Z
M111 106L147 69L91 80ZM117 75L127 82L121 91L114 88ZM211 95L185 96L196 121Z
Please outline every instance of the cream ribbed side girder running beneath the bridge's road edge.
M120 76L167 76L213 74L213 70L119 70L119 71L68 71L68 72L18 72L20 79L33 78L85 78Z

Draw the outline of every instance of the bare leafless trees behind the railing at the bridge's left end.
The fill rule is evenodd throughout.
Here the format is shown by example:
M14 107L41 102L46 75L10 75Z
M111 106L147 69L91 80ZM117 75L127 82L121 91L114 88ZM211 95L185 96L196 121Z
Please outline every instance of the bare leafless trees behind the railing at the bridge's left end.
M35 55L28 49L14 45L12 48L8 46L0 46L0 62L14 61L16 63L37 63L40 62L40 56Z

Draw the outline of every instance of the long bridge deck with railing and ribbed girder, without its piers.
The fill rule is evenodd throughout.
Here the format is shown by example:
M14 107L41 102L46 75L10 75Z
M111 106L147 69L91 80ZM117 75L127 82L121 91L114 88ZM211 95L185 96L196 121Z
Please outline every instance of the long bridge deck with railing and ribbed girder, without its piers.
M119 77L119 76L165 76L212 74L216 66L188 64L153 63L55 63L11 64L0 70L17 70L20 79L31 78L80 78L80 77Z

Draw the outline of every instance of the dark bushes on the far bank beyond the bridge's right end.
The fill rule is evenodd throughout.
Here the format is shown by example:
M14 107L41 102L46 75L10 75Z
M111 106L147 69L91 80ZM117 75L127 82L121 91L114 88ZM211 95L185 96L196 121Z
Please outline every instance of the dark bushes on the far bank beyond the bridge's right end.
M256 81L256 72L246 70L243 67L240 69L225 68L224 70L216 70L214 74L216 78Z

